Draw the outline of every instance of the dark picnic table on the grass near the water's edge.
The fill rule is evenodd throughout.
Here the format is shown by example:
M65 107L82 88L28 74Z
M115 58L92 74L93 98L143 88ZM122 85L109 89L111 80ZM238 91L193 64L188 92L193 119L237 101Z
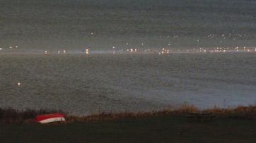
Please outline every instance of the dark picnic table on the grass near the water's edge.
M206 112L190 112L190 115L187 116L187 118L195 118L197 120L200 120L202 123L204 122L204 120L211 120L212 118L214 118L215 116L213 115L213 113L206 113Z

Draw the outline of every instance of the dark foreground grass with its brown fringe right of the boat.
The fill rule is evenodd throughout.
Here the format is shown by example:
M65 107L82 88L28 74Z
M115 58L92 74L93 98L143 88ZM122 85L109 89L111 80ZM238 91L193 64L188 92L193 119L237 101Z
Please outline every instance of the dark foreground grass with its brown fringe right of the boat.
M177 111L67 116L66 123L45 125L33 121L0 123L0 139L1 142L256 142L255 108L209 109L216 117L204 123L186 117L187 111L195 109L191 107L184 111L183 107Z

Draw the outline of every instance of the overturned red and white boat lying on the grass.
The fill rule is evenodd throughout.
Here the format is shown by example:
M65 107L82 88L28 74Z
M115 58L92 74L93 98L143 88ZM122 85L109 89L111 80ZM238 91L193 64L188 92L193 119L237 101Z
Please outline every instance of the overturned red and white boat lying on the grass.
M62 113L50 113L50 114L36 116L35 120L40 123L52 123L52 122L65 121L65 118Z

